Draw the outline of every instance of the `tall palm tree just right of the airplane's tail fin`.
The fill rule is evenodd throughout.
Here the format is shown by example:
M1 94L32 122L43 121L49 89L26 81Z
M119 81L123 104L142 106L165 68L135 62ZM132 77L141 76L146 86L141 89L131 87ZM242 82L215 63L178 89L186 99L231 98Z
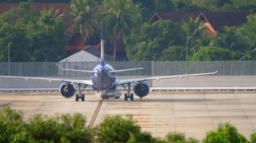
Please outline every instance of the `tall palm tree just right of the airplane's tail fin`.
M129 35L140 22L140 8L132 0L105 0L104 29L111 41L114 41L114 60L117 41Z

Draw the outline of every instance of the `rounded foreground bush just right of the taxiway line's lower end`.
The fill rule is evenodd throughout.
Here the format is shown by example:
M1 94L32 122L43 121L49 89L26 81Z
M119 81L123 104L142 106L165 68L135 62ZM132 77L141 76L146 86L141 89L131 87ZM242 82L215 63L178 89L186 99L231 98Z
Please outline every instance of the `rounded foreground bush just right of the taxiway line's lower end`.
M97 142L160 142L152 137L150 133L142 132L140 126L132 120L131 116L123 119L121 116L106 117L96 127Z

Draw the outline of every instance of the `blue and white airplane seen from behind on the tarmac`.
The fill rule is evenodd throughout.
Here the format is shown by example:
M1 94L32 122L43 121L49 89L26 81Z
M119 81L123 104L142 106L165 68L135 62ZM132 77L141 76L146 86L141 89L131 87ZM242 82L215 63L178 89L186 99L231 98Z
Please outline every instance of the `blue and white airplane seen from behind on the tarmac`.
M60 94L65 98L73 97L76 94L76 90L78 90L78 94L76 94L76 102L81 99L82 102L85 101L85 94L82 92L86 89L86 87L91 86L94 91L101 92L102 99L109 99L107 96L107 92L116 91L116 87L122 86L127 93L124 94L124 100L128 99L134 100L134 94L136 94L140 99L142 97L146 97L150 92L150 80L160 80L160 79L170 79L170 78L182 78L189 76L201 76L201 75L209 75L216 74L218 71L209 72L209 73L200 73L200 74L181 74L181 75L173 75L173 76L162 76L162 77L147 77L140 79L116 79L116 73L122 71L132 71L143 68L134 68L134 69L121 69L114 70L112 66L106 64L104 60L104 38L103 31L101 29L101 61L100 63L92 70L81 70L81 69L63 69L67 71L81 71L81 72L89 72L91 73L90 80L84 79L55 79L55 78L41 78L41 77L16 77L16 76L0 76L3 78L18 78L18 79L38 79L38 80L47 80L49 82L56 81L62 82L60 84ZM131 84L134 83L133 93L131 93ZM78 86L76 89L75 84Z

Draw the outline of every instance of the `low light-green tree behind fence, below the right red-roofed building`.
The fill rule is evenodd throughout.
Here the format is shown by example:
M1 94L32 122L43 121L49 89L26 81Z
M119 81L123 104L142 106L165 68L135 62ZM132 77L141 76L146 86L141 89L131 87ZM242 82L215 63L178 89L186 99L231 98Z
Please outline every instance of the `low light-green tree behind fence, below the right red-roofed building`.
M204 46L201 49L193 54L192 61L229 61L229 60L238 60L242 57L242 54L239 54L229 49L222 49L215 46Z

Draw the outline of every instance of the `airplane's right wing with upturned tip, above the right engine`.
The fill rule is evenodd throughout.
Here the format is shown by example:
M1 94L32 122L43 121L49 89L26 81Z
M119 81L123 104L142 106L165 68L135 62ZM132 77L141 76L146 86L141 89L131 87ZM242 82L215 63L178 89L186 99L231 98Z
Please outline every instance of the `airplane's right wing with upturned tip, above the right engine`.
M142 82L142 81L149 81L149 80L160 80L160 79L171 79L179 77L180 79L183 77L190 77L190 76L202 76L202 75L209 75L209 74L216 74L218 71L214 72L208 72L208 73L200 73L200 74L181 74L181 75L174 75L174 76L160 76L160 77L146 77L141 79L122 79L118 80L116 82L116 85L122 85L122 84L129 84L132 82Z

